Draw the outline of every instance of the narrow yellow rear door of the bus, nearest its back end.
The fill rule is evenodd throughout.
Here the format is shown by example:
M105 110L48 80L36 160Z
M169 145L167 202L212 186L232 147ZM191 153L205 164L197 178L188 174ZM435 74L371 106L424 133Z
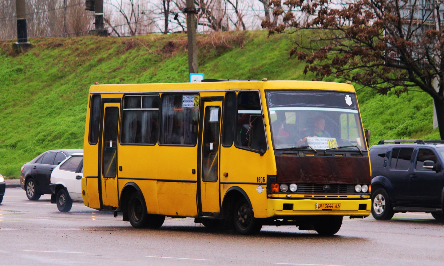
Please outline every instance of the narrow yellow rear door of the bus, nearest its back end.
M105 210L118 207L117 143L120 103L104 103L101 149L100 200Z

